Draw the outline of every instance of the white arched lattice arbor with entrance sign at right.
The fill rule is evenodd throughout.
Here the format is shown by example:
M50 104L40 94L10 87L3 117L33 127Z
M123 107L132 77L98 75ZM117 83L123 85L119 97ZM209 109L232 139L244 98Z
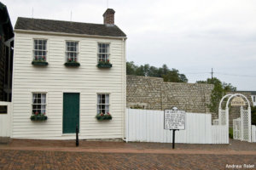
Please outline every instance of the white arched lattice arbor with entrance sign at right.
M227 132L229 132L229 104L230 104L230 99L236 96L246 100L247 110L244 110L243 107L241 106L240 117L233 120L233 134L234 134L233 138L240 139L247 142L252 142L251 106L250 106L249 100L243 94L225 95L220 100L220 103L218 106L218 120L214 120L213 124L226 126ZM228 99L228 100L227 100L225 109L223 110L221 105L224 99Z

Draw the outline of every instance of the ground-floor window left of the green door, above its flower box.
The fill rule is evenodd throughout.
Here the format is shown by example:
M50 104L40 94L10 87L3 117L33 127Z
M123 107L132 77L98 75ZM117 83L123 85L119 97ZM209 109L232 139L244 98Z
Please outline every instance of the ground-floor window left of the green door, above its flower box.
M46 94L33 93L32 94L32 114L46 113Z

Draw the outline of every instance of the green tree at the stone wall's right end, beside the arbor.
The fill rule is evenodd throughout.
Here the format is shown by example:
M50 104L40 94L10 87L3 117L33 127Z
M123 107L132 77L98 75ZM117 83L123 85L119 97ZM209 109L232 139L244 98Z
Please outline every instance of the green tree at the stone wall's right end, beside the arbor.
M218 78L208 78L207 81L197 81L197 83L213 84L211 94L211 103L207 105L211 112L218 113L218 105L222 97L228 92L235 92L236 87L233 87L230 83L221 82Z

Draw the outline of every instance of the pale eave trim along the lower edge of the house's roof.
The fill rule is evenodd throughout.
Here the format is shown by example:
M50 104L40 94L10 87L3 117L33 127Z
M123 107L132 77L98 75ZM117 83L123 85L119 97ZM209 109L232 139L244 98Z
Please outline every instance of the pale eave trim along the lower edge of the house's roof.
M22 30L22 29L15 29L14 31L22 32L22 33L34 33L34 34L69 36L69 37L99 37L99 38L110 38L110 39L127 39L127 37L100 36L100 35L90 35L90 34L55 32L55 31L34 31L34 30Z

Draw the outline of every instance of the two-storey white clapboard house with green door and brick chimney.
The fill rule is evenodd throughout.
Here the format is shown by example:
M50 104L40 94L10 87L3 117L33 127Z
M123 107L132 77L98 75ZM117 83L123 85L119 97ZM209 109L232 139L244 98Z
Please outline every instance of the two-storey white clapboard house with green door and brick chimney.
M126 35L103 20L18 18L11 138L124 138Z

